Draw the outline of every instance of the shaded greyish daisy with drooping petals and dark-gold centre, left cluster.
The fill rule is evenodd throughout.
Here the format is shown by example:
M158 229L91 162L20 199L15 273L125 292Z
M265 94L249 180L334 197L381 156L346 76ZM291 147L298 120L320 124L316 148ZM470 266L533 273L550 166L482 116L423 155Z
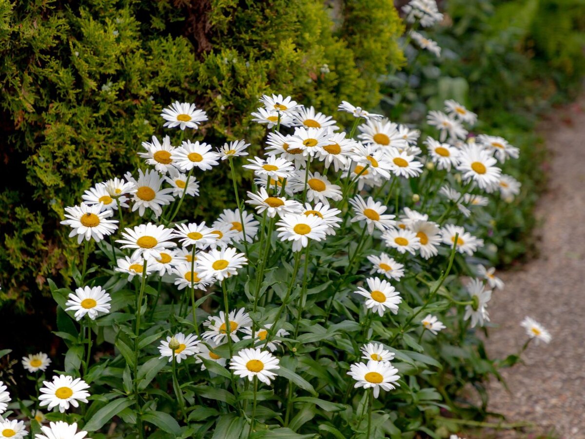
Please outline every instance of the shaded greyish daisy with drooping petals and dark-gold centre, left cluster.
M132 177L130 172L127 172L125 177L128 181L132 181L136 187L136 192L132 193L132 201L134 202L132 212L138 210L138 215L144 216L146 208L150 208L154 215L159 217L163 213L161 206L166 206L173 201L173 195L170 195L173 189L161 189L160 187L163 184L164 177L159 172L147 170L143 173L139 169L137 180Z

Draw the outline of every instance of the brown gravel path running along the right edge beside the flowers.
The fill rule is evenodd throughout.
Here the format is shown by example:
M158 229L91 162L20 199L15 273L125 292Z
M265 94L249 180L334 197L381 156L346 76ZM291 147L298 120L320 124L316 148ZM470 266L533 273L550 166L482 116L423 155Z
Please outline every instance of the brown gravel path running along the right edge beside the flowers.
M551 151L549 190L536 216L542 226L540 257L520 271L501 274L502 292L488 306L486 341L492 357L517 351L525 338L519 323L531 316L552 334L549 345L531 345L525 364L503 371L510 392L490 383L490 410L508 422L530 421L525 431L498 438L585 438L585 99L562 110L545 135Z

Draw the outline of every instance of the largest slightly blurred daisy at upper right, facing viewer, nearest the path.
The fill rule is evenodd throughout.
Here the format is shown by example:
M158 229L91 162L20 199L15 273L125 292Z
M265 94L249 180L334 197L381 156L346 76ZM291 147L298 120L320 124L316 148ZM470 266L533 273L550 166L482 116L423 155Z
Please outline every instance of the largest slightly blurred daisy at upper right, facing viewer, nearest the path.
M457 170L463 173L465 182L473 180L481 189L498 184L502 170L494 165L497 163L490 153L477 146L464 146L459 151Z

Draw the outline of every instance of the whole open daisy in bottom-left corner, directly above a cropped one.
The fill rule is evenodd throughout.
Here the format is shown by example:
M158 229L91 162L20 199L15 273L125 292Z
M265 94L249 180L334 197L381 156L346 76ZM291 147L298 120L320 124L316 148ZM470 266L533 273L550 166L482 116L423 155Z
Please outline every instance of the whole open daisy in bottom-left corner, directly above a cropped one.
M59 407L61 413L69 409L69 406L79 407L78 401L87 403L90 393L85 389L90 386L81 378L73 379L73 376L55 375L53 382L43 381L44 387L40 388L40 406L48 406L47 409Z

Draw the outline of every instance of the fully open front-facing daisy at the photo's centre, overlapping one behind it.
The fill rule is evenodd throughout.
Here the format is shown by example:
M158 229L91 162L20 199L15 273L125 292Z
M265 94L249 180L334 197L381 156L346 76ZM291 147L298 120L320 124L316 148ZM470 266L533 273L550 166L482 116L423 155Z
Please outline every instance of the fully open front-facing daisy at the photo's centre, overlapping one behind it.
M278 238L292 241L292 251L301 251L307 247L309 239L324 240L328 225L324 219L316 215L288 213L276 223Z

